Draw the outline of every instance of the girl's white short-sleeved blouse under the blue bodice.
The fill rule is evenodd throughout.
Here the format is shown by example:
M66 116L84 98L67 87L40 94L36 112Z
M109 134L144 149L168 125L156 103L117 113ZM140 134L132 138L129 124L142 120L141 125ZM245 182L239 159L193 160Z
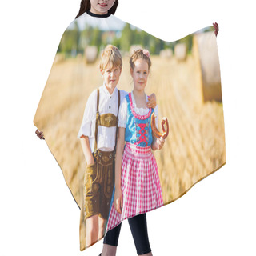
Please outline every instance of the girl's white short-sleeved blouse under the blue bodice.
M149 113L149 111L150 111L149 108L147 108L147 107L146 108L142 108L142 107L138 108L136 106L136 102L135 102L133 92L131 92L131 99L132 99L133 106L134 106L134 111L135 111L136 114L146 115L146 114ZM148 97L146 97L146 102L148 102ZM156 126L158 128L158 106L155 106L154 114L156 115L155 123L156 123ZM120 110L119 110L118 127L126 128L126 118L127 118L127 100L126 100L126 97L125 97L125 98L123 98L123 100L121 102L121 106L120 106Z

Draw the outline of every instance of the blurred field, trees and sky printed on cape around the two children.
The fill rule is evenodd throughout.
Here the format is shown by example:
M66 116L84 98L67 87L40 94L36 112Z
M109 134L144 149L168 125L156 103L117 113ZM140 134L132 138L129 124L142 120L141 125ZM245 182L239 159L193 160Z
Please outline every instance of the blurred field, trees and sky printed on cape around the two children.
M87 98L102 85L99 60L108 44L122 53L118 89L127 92L133 90L130 55L138 48L150 51L152 66L146 94L156 95L159 121L166 117L170 124L165 145L154 151L164 205L226 163L214 28L206 27L177 42L165 42L113 15L99 18L82 14L62 35L34 117L34 125L43 131L81 209L80 250L86 248L86 161L77 136Z

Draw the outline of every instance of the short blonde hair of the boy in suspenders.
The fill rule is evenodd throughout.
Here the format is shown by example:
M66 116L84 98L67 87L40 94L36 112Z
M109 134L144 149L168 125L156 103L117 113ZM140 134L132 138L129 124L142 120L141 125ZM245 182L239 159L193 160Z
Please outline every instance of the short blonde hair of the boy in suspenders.
M102 59L99 64L100 70L106 70L106 68L120 67L122 69L122 56L118 47L108 45L102 51Z

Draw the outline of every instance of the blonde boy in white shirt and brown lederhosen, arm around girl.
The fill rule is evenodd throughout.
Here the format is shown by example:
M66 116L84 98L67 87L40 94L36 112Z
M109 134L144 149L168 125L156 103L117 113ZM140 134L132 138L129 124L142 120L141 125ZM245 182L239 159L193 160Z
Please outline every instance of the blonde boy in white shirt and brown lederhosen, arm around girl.
M90 94L78 133L87 163L86 247L104 236L114 187L118 109L127 94L116 88L122 73L122 56L117 47L108 45L103 50L100 72L103 85ZM156 105L155 96L151 96L148 107Z

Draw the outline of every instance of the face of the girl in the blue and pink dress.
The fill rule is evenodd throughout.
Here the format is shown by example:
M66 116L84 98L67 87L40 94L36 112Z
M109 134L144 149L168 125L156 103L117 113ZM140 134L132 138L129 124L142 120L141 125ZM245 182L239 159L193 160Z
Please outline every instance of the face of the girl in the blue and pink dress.
M134 90L144 90L149 76L149 66L145 60L138 58L134 62L134 70L130 69L130 74L134 79Z

